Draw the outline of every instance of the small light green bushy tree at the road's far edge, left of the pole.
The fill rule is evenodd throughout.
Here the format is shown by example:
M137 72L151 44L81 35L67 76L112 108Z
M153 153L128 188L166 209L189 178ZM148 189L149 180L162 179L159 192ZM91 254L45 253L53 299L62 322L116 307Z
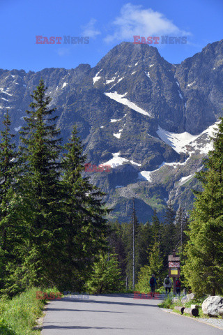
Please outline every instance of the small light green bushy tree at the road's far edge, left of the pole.
M86 289L93 294L121 291L124 283L116 254L100 254L94 263L93 274L86 284Z

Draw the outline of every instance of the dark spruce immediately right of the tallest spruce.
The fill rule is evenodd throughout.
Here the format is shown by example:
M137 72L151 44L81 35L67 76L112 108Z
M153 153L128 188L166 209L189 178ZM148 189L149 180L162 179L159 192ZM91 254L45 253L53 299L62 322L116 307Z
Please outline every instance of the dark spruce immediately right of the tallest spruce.
M66 249L63 257L69 285L82 285L100 251L107 249L105 195L89 178L82 177L86 156L76 126L63 155L63 232ZM78 284L79 283L79 284Z

